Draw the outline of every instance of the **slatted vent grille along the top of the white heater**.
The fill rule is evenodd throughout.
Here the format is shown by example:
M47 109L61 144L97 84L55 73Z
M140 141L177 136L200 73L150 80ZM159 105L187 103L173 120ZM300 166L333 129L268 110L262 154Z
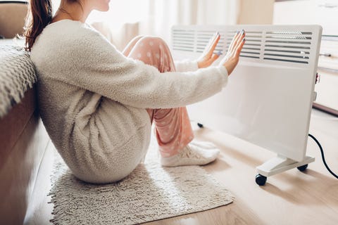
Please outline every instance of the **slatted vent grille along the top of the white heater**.
M207 29L182 29L174 27L172 32L173 50L202 53L213 37L219 32L221 39L216 46L226 52L237 30L233 27L211 27ZM232 29L231 29L232 28ZM273 60L285 63L309 64L313 32L294 30L246 30L246 42L241 57L253 60Z

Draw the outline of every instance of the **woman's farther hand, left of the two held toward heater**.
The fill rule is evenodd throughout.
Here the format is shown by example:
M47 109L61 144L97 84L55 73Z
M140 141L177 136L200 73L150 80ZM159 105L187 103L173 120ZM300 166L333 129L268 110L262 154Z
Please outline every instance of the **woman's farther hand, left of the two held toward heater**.
M204 49L203 55L197 60L197 64L199 68L206 68L209 65L213 64L215 60L220 57L220 52L214 54L215 48L220 40L220 34L216 32L213 34L213 37L210 39L209 43L206 45L206 49Z

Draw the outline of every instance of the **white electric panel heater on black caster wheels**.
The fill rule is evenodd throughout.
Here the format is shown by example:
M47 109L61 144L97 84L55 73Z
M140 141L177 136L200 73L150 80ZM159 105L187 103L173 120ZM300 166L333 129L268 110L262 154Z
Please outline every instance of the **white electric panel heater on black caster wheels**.
M188 105L189 117L277 153L257 167L256 183L315 159L306 156L320 49L318 25L174 26L175 60L196 60L215 32L215 51L227 52L235 32L246 31L237 68L219 94ZM218 64L220 60L215 62ZM196 87L199 88L199 87Z

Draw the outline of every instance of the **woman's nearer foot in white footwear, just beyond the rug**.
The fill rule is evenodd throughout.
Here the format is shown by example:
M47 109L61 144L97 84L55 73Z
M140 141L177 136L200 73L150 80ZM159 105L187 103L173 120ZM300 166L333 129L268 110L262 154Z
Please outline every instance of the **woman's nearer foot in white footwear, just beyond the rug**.
M189 143L187 146L178 151L177 155L170 157L161 157L161 165L164 167L178 167L186 165L206 165L213 162L220 150L218 148L212 148L213 144L205 142L199 142L199 146L194 143ZM208 148L206 148L208 146Z

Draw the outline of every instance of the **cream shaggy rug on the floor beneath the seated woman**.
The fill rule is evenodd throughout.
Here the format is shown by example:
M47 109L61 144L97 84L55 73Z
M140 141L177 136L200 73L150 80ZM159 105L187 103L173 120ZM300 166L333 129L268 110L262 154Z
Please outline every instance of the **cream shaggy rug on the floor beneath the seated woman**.
M54 224L140 224L210 210L233 196L199 166L161 167L154 140L144 164L116 184L86 184L59 155L51 178Z

